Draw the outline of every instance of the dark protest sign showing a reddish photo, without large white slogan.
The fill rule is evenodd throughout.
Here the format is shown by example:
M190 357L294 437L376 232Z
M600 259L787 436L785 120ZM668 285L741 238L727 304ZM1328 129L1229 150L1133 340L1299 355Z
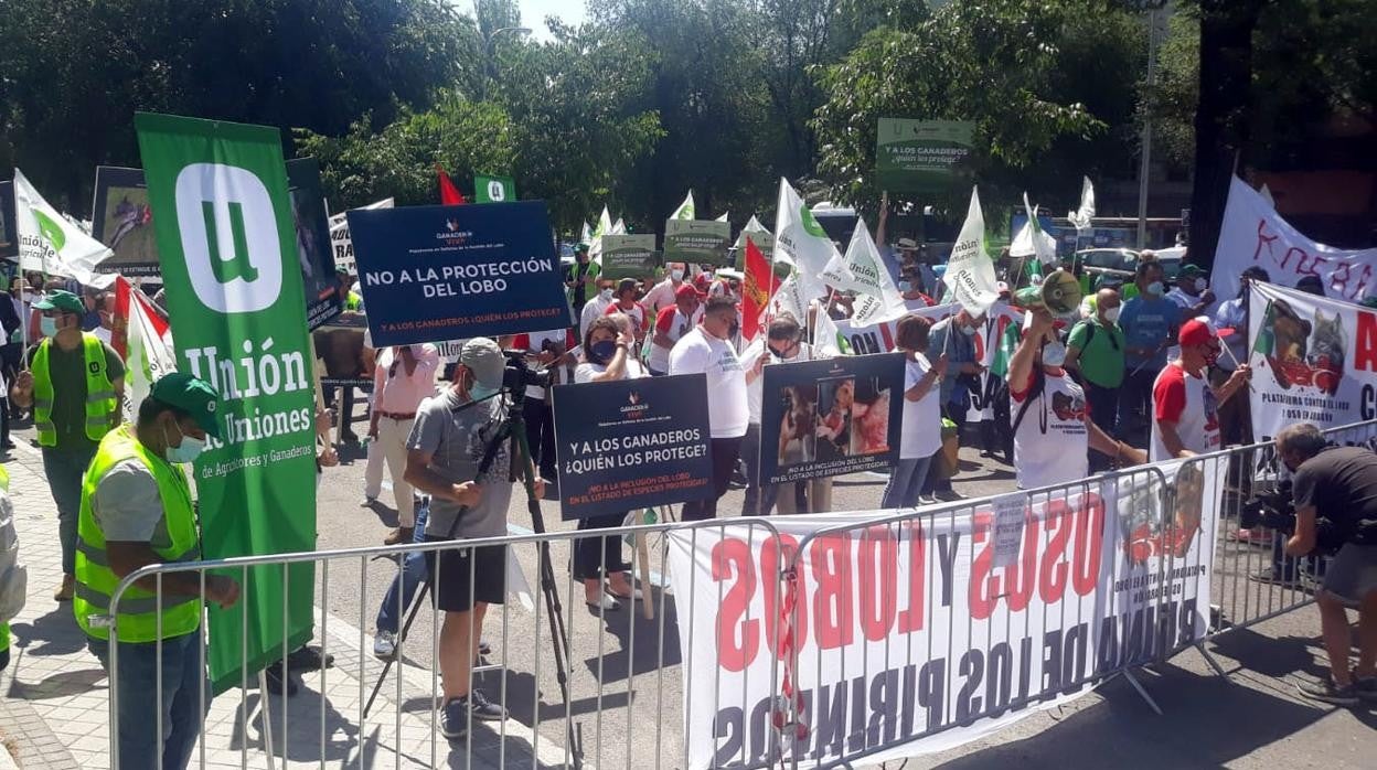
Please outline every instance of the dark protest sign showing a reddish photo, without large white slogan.
M892 467L902 419L902 353L770 364L761 382L761 482Z

